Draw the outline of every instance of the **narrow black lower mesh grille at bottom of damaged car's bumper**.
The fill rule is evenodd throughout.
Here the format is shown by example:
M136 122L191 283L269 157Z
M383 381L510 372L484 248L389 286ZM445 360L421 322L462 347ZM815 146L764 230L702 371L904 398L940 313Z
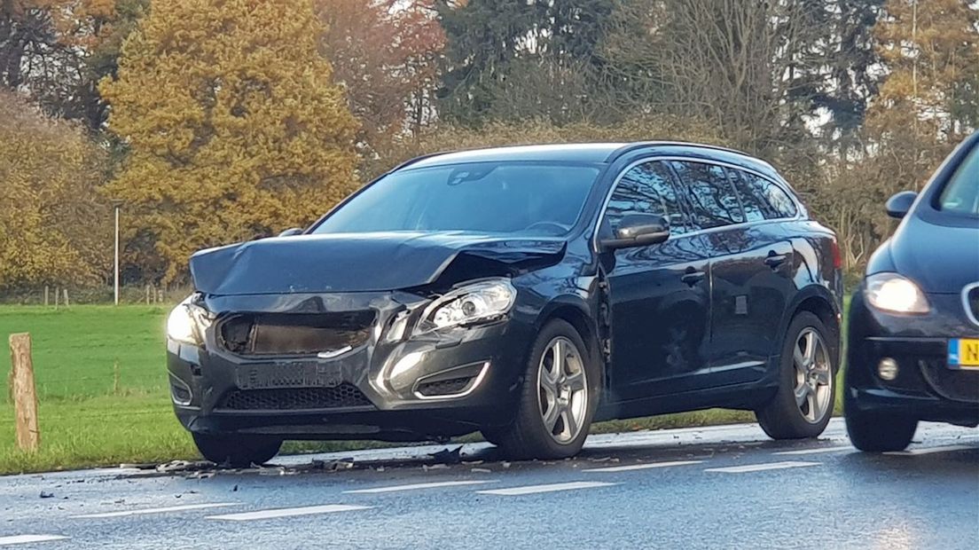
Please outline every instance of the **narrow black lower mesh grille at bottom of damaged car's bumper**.
M352 384L334 388L289 390L234 390L218 408L235 411L288 411L372 406L370 399Z

